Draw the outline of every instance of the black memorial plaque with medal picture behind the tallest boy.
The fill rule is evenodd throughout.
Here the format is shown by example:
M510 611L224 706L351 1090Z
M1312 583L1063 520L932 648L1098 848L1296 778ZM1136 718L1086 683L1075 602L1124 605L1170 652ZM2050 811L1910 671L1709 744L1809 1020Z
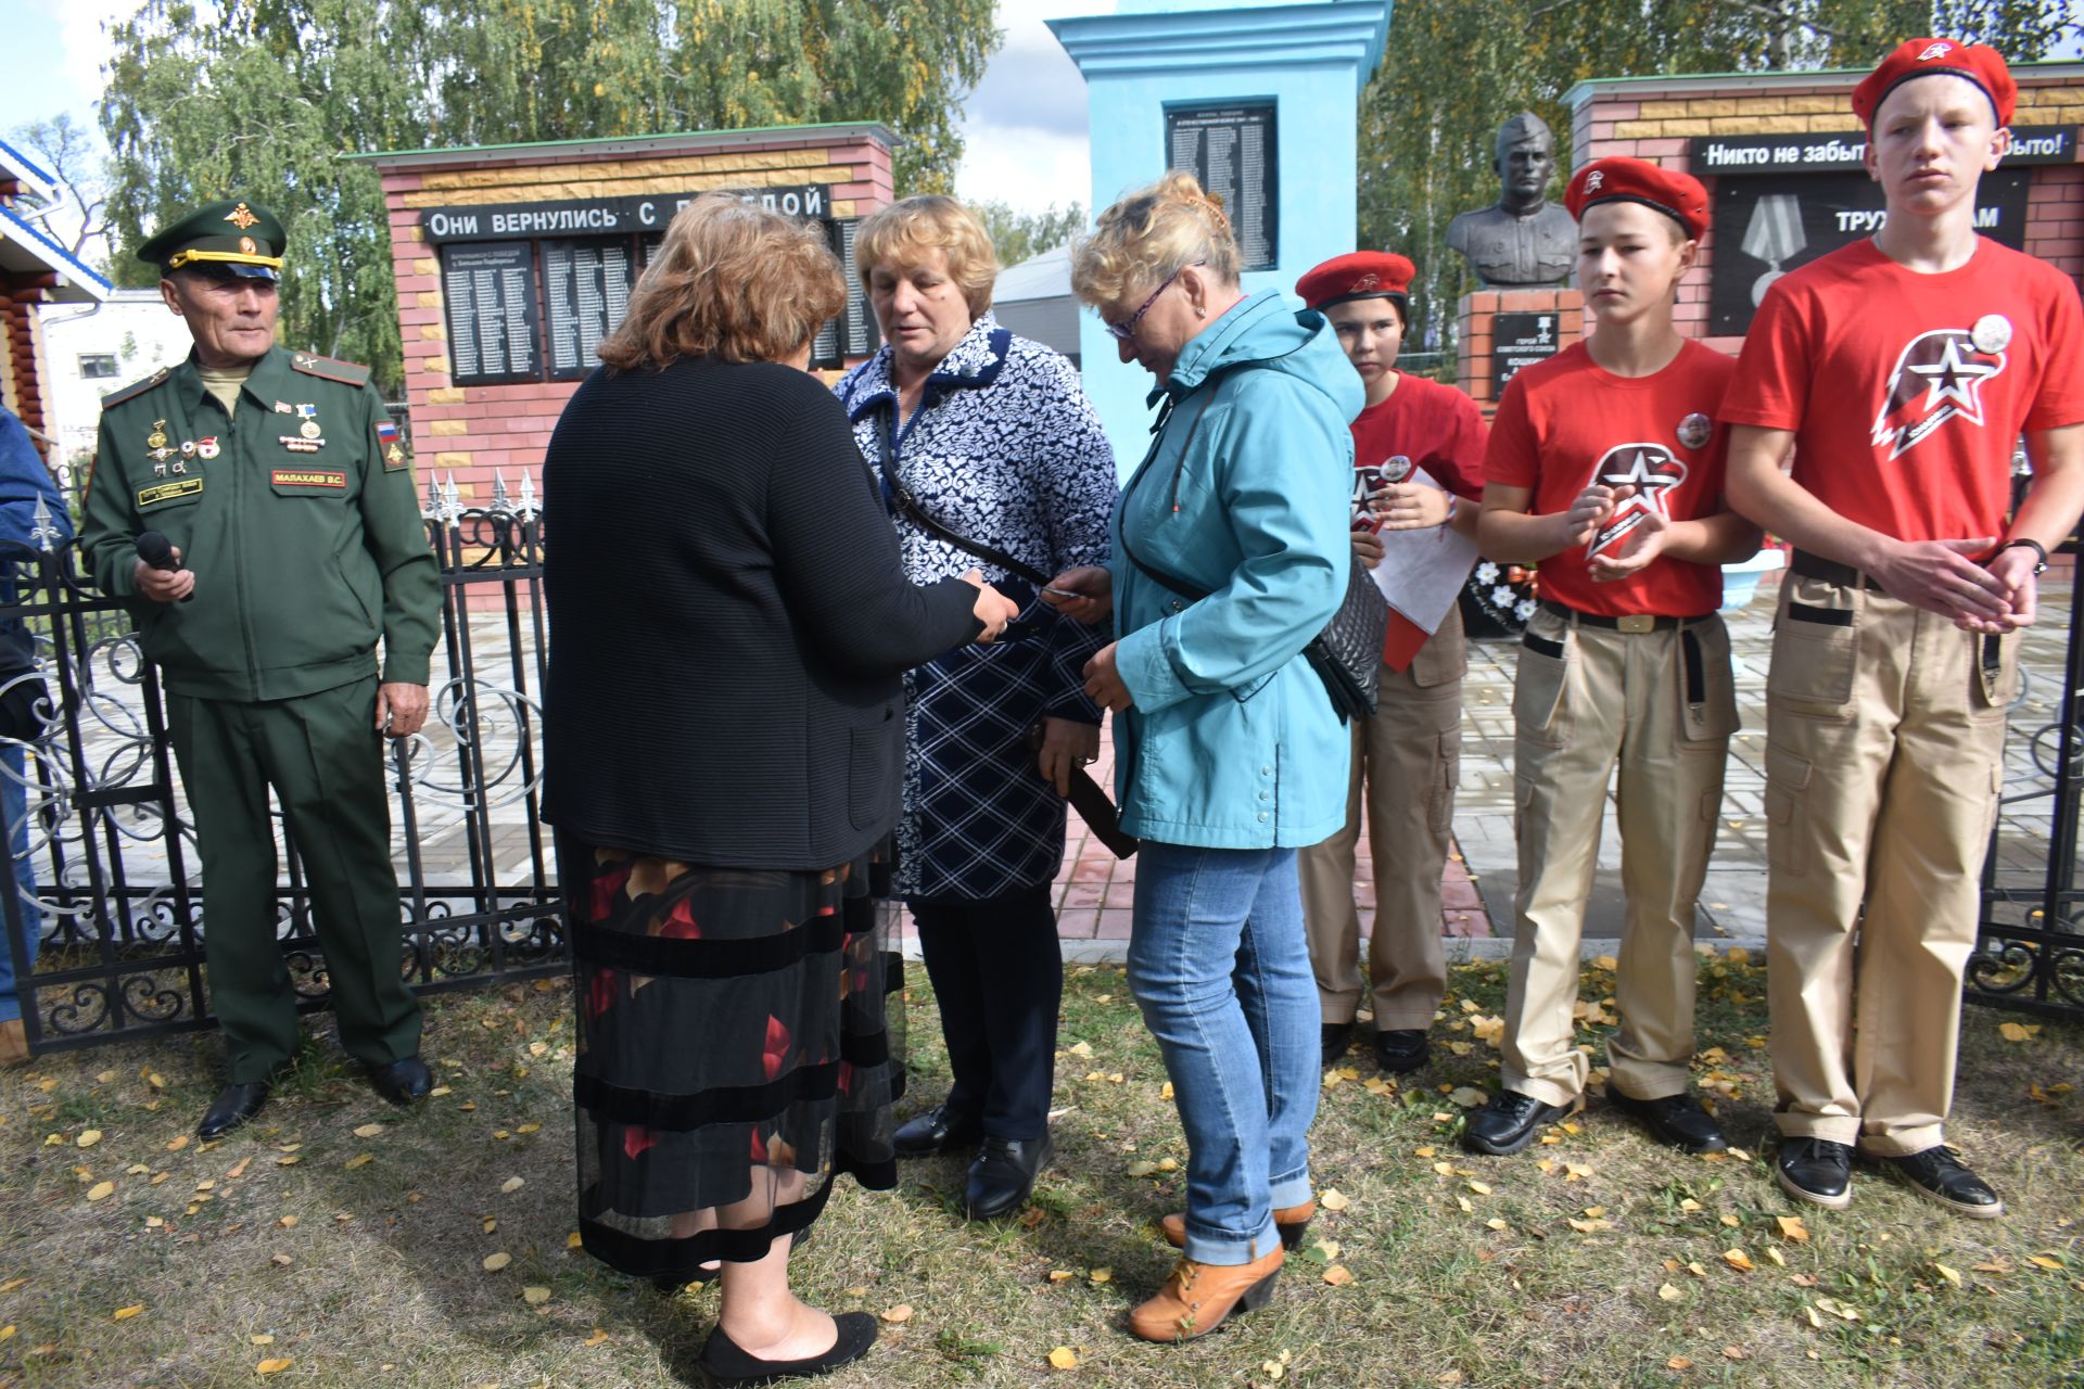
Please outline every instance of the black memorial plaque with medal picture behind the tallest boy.
M1976 190L1976 229L2026 250L2032 173L1999 169ZM1709 335L1742 337L1767 285L1821 254L1880 231L1882 185L1865 173L1792 173L1717 179L1715 262L1707 287Z

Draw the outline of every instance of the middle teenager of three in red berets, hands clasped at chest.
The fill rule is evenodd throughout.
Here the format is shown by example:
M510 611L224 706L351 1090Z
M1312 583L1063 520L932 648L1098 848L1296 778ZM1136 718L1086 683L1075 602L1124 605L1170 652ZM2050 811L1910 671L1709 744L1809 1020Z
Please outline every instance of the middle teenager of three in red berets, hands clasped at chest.
M1513 687L1519 893L1503 1089L1463 1143L1515 1154L1580 1110L1590 1060L1571 1039L1578 948L1619 762L1621 927L1607 1097L1659 1141L1726 1147L1686 1089L1692 1066L1694 900L1736 729L1721 564L1759 531L1721 500L1715 429L1730 358L1671 325L1707 229L1692 177L1603 158L1563 198L1578 285L1598 327L1505 387L1486 456L1480 541L1540 564Z

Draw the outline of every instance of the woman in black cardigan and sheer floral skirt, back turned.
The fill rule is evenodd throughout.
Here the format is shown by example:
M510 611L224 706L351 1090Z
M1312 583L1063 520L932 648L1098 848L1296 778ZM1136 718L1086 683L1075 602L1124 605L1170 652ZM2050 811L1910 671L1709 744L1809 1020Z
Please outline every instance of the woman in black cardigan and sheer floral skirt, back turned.
M900 673L1013 604L913 585L846 416L807 373L846 289L736 198L667 229L544 462L544 816L571 902L579 1235L717 1277L715 1383L821 1374L875 1320L788 1287L832 1179L896 1183L871 860L898 810Z

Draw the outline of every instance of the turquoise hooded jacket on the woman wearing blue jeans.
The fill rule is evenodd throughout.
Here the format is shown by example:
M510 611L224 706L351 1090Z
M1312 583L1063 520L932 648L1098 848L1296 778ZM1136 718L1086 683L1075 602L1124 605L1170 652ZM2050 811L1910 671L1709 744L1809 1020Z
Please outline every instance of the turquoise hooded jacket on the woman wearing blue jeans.
M1346 727L1302 648L1346 594L1361 377L1323 314L1236 304L1152 392L1169 414L1115 504L1121 827L1300 848L1346 823ZM1198 602L1138 569L1207 589Z

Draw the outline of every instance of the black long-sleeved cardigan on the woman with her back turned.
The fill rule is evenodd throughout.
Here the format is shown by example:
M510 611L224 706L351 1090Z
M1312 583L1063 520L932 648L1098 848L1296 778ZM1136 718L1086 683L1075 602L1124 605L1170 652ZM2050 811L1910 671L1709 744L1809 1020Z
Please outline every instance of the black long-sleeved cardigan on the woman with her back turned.
M913 587L840 402L769 362L600 369L544 460L546 808L594 845L829 868L900 804L900 677L977 633Z

